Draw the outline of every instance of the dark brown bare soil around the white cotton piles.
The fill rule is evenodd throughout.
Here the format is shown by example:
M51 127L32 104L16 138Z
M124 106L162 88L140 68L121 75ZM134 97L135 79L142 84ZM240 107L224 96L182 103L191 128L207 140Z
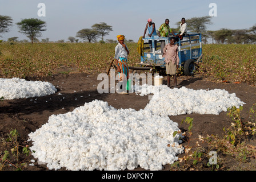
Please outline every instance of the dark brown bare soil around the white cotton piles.
M58 74L43 78L29 78L30 80L41 80L51 82L57 89L58 92L51 94L50 96L27 98L18 100L4 100L0 102L0 151L9 150L10 146L6 145L5 139L11 130L17 129L19 133L18 142L22 146L31 143L27 142L28 134L39 129L45 124L50 115L52 114L63 114L68 111L74 110L76 107L82 106L85 102L93 100L102 100L114 106L116 109L127 109L133 108L135 110L143 109L149 103L148 96L139 96L135 93L129 95L122 95L118 93L114 94L99 94L97 92L97 85L101 80L97 80L97 75L87 75L86 73L69 73L69 74ZM229 93L235 93L246 104L243 105L242 117L247 116L247 112L250 107L256 102L256 88L245 84L233 84L227 82L213 82L201 75L190 76L179 76L178 77L178 88L186 86L186 88L192 89L225 89ZM171 83L173 81L171 80ZM166 84L166 77L163 84ZM61 95L59 95L61 93ZM83 96L83 97L81 97ZM63 100L63 97L65 99ZM199 115L199 114L185 114L170 116L170 119L174 122L179 123L179 128L182 131L187 131L188 125L182 123L182 119L186 117L194 118L194 126L192 130L192 137L198 138L198 135L206 137L207 135L223 135L223 127L229 127L231 118L227 117L226 112L222 112L219 115ZM187 142L183 142L186 146ZM256 146L255 137L251 138L250 144ZM195 142L190 143L191 146L195 146ZM180 155L181 157L183 155ZM26 156L20 155L19 160L24 160ZM222 158L222 170L255 170L256 163L255 159L251 158L249 161L243 163L238 162L231 156L219 155ZM37 159L35 160L34 166L30 160L34 159L33 156L29 156L25 159L27 166L23 167L23 171L47 171L45 164L38 164ZM207 163L207 161L205 162ZM1 163L0 163L1 164ZM1 166L0 166L1 167ZM170 170L170 165L164 166L163 170ZM190 168L191 169L191 168ZM196 168L192 168L196 169ZM199 170L210 170L211 168L202 166ZM4 171L13 171L15 167L5 167ZM65 171L62 168L61 171ZM142 168L136 168L135 170L143 170Z

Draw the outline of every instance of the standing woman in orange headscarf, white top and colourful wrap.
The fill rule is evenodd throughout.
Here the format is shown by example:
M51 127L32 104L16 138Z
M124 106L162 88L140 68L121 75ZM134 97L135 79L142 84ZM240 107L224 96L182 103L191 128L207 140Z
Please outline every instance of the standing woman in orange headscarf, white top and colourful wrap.
M123 81L128 80L129 78L129 67L127 65L127 57L130 53L129 49L125 44L125 36L118 35L117 36L118 44L115 47L115 64L117 65L117 72L119 75L119 86L121 86L121 90L123 92L118 92L121 94L127 94L124 91L125 88L123 87Z

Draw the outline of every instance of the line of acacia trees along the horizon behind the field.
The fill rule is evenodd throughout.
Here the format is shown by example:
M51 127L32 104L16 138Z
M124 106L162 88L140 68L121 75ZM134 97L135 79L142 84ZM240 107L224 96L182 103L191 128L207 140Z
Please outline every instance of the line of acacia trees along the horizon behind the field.
M187 31L189 32L200 32L202 34L203 43L236 43L236 44L255 44L256 43L256 24L249 29L230 30L228 28L221 28L221 30L212 31L207 30L207 25L213 24L211 22L211 16L202 16L186 19ZM179 31L179 24L175 23L177 28L173 28L174 32ZM42 36L42 31L46 31L46 22L37 19L23 19L21 22L16 23L19 32L25 34L30 39L31 43L39 42L37 38ZM0 15L0 37L1 34L9 32L10 27L13 26L13 19L10 16ZM83 28L77 32L76 37L82 40L88 41L89 43L95 42L98 38L101 38L100 43L104 42L104 36L109 35L109 32L113 31L112 26L105 22L96 23L91 28ZM70 36L69 41L71 43L78 42L78 39ZM211 42L209 42L209 39ZM9 41L16 42L18 37L9 38ZM25 40L24 40L25 41ZM115 40L106 39L109 43L116 43ZM42 39L42 42L49 42L49 38ZM65 42L65 40L58 40L59 43ZM133 42L133 40L128 40Z

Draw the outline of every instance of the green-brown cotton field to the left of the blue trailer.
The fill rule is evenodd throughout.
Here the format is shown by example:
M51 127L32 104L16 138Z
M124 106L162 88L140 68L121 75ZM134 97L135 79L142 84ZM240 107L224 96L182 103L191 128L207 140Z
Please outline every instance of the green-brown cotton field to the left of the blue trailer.
M77 68L81 72L106 72L115 46L99 43L0 44L0 76L47 76L60 67ZM131 51L130 65L138 63L137 45L127 46Z

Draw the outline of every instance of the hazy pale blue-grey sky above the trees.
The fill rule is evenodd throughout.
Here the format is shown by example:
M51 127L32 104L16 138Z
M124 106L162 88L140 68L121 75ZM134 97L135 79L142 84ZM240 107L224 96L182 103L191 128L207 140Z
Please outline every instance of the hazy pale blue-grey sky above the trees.
M46 16L38 16L39 3L45 4ZM210 3L217 5L217 16L213 16L213 24L207 26L207 30L243 29L256 24L255 0L0 0L0 15L11 16L14 22L10 32L2 34L0 39L17 36L19 40L28 40L18 32L16 23L25 18L39 18L46 22L47 29L39 40L67 41L79 30L105 22L113 26L105 40L116 40L117 35L123 34L126 39L137 42L143 35L148 18L153 19L156 28L169 18L170 27L176 28L175 23L182 17L189 19L209 15Z

